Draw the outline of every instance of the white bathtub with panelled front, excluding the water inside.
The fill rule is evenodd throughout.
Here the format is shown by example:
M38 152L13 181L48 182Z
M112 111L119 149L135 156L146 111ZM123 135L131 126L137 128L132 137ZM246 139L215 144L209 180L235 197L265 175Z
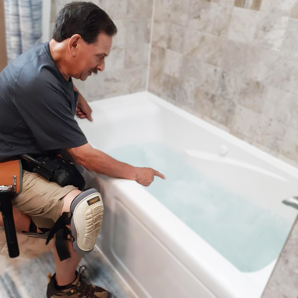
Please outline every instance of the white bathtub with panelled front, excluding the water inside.
M164 143L207 177L294 221L296 212L281 201L297 195L296 168L148 92L90 105L94 121L78 123L94 148ZM226 156L219 154L222 145ZM261 296L276 260L260 271L241 272L135 181L93 172L85 177L100 188L105 204L97 247L136 297Z

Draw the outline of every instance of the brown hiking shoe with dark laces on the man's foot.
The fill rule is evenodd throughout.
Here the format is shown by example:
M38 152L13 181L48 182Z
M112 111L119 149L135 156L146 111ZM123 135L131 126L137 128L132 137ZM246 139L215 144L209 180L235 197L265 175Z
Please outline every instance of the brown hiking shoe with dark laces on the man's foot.
M58 286L55 280L56 274L54 274L50 282L48 284L48 288L46 290L46 297L47 298L112 298L111 293L107 290L97 287L96 285L90 285L84 282L83 279L83 272L86 268L83 269L81 272L80 267L79 272L76 271L76 279L70 283L69 285L65 286Z

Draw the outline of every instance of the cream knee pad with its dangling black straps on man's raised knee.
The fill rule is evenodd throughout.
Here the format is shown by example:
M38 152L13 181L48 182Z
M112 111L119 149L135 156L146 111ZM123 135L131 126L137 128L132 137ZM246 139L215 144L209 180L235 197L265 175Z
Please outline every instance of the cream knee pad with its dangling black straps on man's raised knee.
M72 240L81 256L94 249L103 219L103 201L99 192L91 188L77 195L70 212L63 212L49 233L46 244L56 234L56 248L60 260L70 257L64 240ZM67 227L70 225L70 229ZM69 239L69 236L71 239Z

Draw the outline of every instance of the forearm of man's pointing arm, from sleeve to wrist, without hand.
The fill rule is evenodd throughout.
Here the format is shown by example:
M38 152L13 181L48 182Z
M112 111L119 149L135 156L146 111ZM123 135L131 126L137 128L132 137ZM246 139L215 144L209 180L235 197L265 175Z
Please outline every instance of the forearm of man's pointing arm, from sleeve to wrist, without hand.
M136 180L137 178L135 167L124 162L119 162L111 156L94 148L92 148L92 151L89 151L86 155L73 157L87 170L92 170L114 178L124 178L129 180Z

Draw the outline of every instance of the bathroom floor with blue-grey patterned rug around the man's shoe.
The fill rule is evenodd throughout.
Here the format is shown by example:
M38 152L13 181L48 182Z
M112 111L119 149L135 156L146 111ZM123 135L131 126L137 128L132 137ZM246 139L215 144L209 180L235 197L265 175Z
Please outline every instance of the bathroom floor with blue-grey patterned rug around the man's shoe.
M20 256L12 259L8 256L4 230L0 227L0 297L46 298L47 274L55 272L51 246L46 246L44 239L22 234L18 234L18 244ZM106 288L113 298L135 297L112 273L96 249L82 259L82 265L86 266L86 277L91 283Z

